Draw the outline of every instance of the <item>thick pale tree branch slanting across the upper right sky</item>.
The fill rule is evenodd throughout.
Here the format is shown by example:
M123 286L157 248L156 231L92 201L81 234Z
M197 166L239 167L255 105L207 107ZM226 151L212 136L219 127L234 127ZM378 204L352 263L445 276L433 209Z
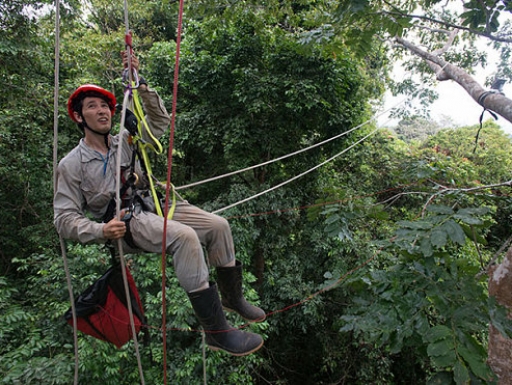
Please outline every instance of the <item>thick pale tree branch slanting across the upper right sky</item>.
M396 37L395 41L413 54L427 62L432 71L436 73L437 80L453 80L459 84L482 107L494 111L504 119L512 123L512 99L496 90L483 88L470 74L463 69L454 66L441 57L426 52L413 43Z

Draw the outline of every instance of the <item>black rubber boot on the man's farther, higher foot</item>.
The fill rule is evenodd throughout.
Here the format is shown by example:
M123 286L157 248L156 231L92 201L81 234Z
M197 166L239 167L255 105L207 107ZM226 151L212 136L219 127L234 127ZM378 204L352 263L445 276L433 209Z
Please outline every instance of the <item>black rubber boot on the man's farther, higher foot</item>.
M241 262L236 261L232 267L217 267L217 278L224 309L236 311L248 321L261 322L265 319L265 312L244 298Z

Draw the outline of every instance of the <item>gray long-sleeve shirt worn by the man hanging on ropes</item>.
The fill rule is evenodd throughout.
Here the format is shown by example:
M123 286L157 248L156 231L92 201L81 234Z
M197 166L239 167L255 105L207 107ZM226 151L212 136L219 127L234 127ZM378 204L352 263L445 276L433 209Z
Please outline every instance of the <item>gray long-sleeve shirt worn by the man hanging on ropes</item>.
M140 89L146 120L154 137L160 138L169 127L170 117L158 94L151 89ZM144 139L149 139L143 135ZM57 187L53 200L54 224L66 239L81 243L104 243L104 224L99 220L105 214L112 197L116 195L116 162L119 141L123 140L121 168L129 167L133 147L128 143L125 129L112 136L106 156L89 148L82 139L57 167ZM140 165L136 172L142 175Z

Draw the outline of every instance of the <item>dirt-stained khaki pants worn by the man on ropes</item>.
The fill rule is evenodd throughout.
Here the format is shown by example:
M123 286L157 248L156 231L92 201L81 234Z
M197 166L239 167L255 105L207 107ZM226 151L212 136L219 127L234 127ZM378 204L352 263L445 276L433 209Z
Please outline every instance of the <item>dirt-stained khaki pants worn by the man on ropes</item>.
M130 231L138 249L123 242L130 252L162 253L164 218L150 213L134 214ZM224 266L235 258L231 228L226 219L206 212L186 201L178 201L172 220L167 221L166 251L172 255L174 270L187 293L208 282L208 263Z

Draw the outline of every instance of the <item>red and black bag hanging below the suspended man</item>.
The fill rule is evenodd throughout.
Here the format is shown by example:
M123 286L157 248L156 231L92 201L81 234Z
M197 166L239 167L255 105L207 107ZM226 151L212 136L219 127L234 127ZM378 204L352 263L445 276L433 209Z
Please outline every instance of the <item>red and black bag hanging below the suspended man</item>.
M130 289L135 331L146 327L147 322L135 281L126 268ZM77 328L81 332L111 342L118 348L132 339L130 315L126 303L121 265L112 266L101 278L89 286L75 300ZM64 318L73 326L72 309ZM147 329L146 329L147 331Z

